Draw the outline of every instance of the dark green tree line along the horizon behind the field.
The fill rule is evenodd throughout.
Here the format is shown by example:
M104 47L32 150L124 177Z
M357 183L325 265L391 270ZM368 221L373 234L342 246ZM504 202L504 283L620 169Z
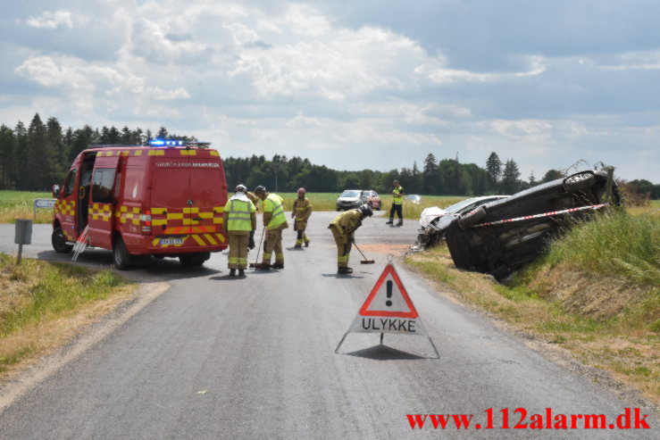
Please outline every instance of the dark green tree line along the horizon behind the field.
M60 122L48 118L43 122L38 113L26 128L19 121L13 129L0 125L0 189L45 191L61 183L76 156L89 145L148 145L152 139L196 141L196 137L178 136L164 127L129 129L103 127L93 129L63 129ZM407 194L422 195L488 195L514 194L556 178L561 170L547 170L537 180L531 173L527 180L513 158L503 162L492 152L484 166L461 163L458 157L438 159L428 154L420 169L416 162L410 168L379 170L332 170L300 157L287 158L275 154L223 158L227 183L238 183L252 189L264 185L269 190L295 192L305 187L311 192L333 193L343 189L375 189L388 193L394 179L401 182ZM660 198L660 185L647 180L627 182L629 187L643 191L651 198Z

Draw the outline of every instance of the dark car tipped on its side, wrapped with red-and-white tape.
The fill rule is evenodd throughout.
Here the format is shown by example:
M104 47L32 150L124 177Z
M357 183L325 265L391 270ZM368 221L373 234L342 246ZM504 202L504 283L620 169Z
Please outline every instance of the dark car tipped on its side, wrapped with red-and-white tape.
M542 253L576 220L619 204L612 173L585 170L455 218L445 238L455 266L502 279Z

